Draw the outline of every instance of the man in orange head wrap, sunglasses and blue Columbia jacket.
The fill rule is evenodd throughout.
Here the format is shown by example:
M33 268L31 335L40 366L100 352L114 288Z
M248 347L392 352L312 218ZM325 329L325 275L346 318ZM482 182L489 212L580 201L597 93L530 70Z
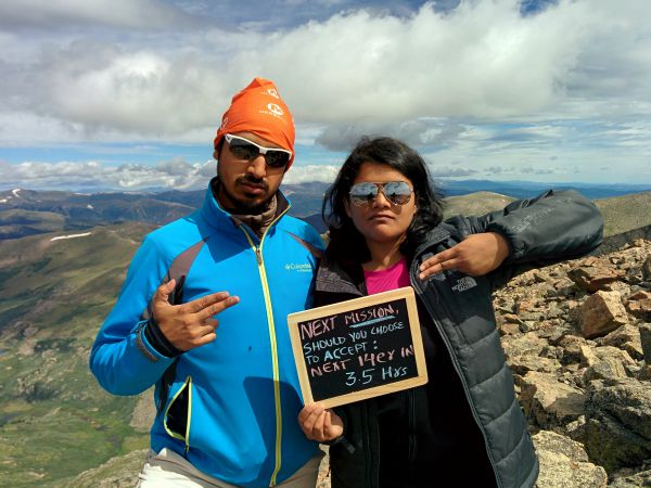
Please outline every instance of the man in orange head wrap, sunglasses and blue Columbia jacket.
M311 305L322 243L279 191L294 124L271 81L233 97L214 145L203 206L144 239L90 367L115 395L155 385L140 487L314 487L286 316Z

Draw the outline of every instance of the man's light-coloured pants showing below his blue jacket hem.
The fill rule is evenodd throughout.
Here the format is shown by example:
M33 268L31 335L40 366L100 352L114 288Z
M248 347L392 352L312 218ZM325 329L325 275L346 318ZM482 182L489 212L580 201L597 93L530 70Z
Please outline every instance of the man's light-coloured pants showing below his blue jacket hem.
M322 454L314 457L292 477L276 486L282 488L315 488L321 458ZM157 454L150 451L139 478L137 488L238 488L235 485L230 485L202 473L186 458L167 448L164 448Z

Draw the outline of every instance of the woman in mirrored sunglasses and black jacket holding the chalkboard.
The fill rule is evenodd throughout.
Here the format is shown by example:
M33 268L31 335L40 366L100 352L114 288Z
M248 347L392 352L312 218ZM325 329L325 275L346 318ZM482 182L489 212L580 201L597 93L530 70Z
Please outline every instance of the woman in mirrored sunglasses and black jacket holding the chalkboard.
M429 182L406 144L362 139L326 194L331 241L316 282L316 305L411 285L429 383L334 410L308 404L298 421L331 445L333 488L532 487L538 462L492 292L595 249L601 216L575 192L548 191L442 223Z

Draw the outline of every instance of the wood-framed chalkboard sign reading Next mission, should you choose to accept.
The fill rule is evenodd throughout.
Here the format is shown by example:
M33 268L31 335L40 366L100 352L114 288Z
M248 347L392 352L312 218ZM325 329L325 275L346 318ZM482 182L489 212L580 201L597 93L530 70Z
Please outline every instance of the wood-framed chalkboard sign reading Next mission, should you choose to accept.
M327 408L427 382L413 290L288 316L305 403Z

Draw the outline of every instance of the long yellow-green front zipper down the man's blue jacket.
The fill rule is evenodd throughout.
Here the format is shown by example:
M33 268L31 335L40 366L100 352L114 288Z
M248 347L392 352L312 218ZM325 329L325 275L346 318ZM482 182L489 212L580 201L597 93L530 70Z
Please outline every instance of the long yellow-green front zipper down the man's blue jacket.
M247 230L244 228L244 224L240 224L240 230L244 233L244 236L248 241L248 244L253 248L255 253L255 257L257 260L258 272L260 274L260 283L263 285L263 294L265 296L265 308L267 310L267 324L269 325L269 342L271 346L271 369L273 372L273 401L276 404L276 464L273 466L273 472L271 473L271 478L269 479L269 486L276 486L276 478L278 473L280 472L280 466L282 464L282 407L280 402L280 367L278 364L278 343L276 342L276 324L273 321L273 308L271 307L271 294L269 292L269 283L267 280L267 271L265 269L265 261L263 260L263 244L265 242L265 236L267 235L267 231L271 229L271 227L290 209L285 208L273 221L269 224L269 227L265 230L265 233L260 237L260 242L256 245L253 242Z

